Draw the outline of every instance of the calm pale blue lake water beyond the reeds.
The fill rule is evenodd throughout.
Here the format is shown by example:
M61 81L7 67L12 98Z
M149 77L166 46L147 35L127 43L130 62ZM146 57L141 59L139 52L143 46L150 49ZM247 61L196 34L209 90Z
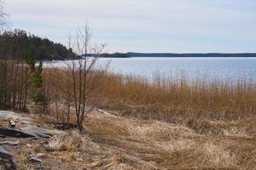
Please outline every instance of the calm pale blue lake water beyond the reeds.
M105 65L110 61L109 71L124 75L137 75L152 78L156 73L164 77L186 76L217 78L236 81L246 78L256 82L256 58L127 58L100 59ZM55 66L64 66L61 61Z

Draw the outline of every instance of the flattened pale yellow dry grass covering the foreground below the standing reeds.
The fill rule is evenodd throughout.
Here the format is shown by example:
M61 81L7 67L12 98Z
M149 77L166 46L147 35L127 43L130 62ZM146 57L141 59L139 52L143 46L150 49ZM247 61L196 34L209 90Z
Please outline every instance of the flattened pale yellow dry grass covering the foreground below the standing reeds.
M63 151L72 155L78 151L86 153L81 162L65 154L66 161L78 169L253 169L256 166L253 134L204 134L182 124L143 121L99 111L92 113L84 126L86 135L72 131L49 141L50 147L60 152L55 157L61 159ZM234 132L241 129L237 126ZM229 131L225 127L221 130ZM65 150L61 149L63 144Z

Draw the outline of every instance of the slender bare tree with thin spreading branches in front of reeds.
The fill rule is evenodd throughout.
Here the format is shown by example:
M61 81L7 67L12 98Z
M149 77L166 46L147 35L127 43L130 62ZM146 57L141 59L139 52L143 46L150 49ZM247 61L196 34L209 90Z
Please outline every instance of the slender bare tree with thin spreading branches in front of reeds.
M73 61L66 62L70 74L67 85L67 101L73 100L76 121L79 130L83 130L83 122L96 107L96 90L100 84L100 77L108 65L99 67L97 60L102 54L105 44L96 44L91 41L92 34L88 23L79 27L74 37L69 37L69 48L73 48L78 56L73 56ZM78 59L80 57L80 59Z

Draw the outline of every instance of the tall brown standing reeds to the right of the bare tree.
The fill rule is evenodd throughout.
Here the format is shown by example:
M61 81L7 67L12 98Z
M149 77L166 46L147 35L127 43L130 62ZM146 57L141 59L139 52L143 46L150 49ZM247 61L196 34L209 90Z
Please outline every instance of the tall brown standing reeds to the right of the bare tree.
M142 77L105 75L99 107L121 111L126 116L181 122L197 116L214 120L237 120L256 114L256 86L240 80L180 76L168 79L157 75L148 82Z

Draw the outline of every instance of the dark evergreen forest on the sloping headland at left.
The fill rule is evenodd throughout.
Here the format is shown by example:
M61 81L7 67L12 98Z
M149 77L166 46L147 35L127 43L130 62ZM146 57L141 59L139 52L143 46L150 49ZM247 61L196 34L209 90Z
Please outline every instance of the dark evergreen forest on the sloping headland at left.
M73 59L73 50L26 31L5 31L0 35L0 58L19 59L30 54L37 60Z

